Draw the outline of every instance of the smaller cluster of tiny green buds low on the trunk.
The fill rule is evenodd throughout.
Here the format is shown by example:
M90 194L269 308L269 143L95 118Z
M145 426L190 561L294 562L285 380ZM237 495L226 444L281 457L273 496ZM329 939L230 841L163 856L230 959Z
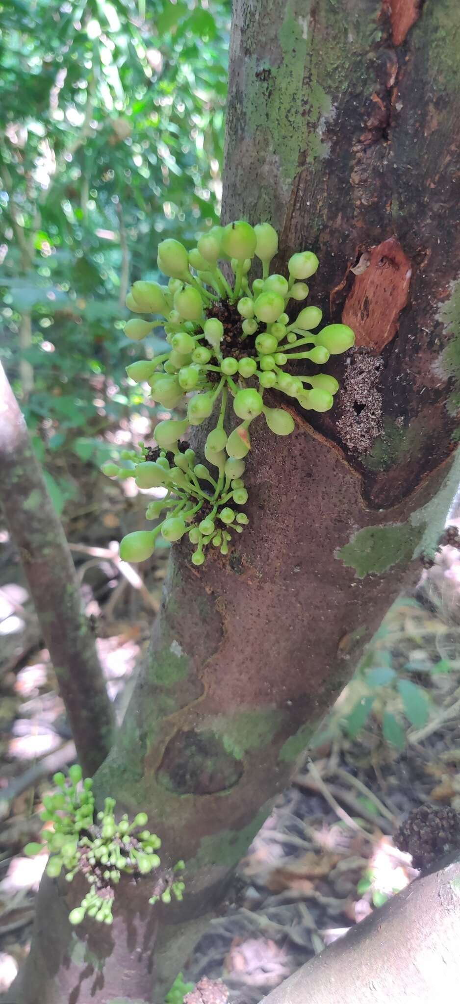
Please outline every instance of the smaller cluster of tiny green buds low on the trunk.
M145 812L138 812L133 822L127 814L117 822L116 801L105 798L103 811L95 814L92 781L89 777L82 781L78 764L70 767L68 778L59 772L54 774L53 781L58 790L43 799L41 813L41 819L52 822L53 828L43 829L43 843L28 843L24 852L36 854L46 846L50 854L46 871L52 878L57 878L62 868L67 882L77 871L84 874L90 889L80 906L70 912L70 924L81 924L86 914L100 923L111 924L113 887L122 872L144 875L155 871L154 895L149 903L160 898L163 903L171 903L172 895L182 900L185 886L177 872L184 868L184 861L178 861L167 871L158 870L161 862L157 850L161 840L145 828L148 821Z

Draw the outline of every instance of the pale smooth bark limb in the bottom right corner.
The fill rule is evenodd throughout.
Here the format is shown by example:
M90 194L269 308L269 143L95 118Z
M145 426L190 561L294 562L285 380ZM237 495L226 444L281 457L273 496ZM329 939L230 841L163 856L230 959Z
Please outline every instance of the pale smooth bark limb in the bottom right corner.
M458 999L460 864L416 878L264 1004L429 1004Z

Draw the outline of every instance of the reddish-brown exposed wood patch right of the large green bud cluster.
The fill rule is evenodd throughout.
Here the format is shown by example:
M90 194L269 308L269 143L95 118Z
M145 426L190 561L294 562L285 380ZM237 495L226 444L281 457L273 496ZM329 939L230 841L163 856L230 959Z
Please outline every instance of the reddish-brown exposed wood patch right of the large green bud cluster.
M372 248L369 267L357 275L342 312L358 346L381 352L395 337L409 299L411 275L409 258L396 238Z

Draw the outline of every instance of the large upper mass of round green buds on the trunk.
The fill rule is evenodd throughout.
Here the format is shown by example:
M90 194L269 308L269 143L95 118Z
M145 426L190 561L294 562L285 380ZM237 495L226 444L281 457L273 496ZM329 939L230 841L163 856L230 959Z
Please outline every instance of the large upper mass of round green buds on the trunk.
M169 276L168 286L135 282L128 294L127 305L135 313L161 315L157 320L128 321L128 337L141 340L161 325L170 346L152 360L133 362L127 367L129 376L147 382L152 399L167 409L176 408L185 395L195 393L188 401L186 420L157 426L155 436L163 452L156 461L145 456L137 465L133 463L131 473L114 464L103 467L109 477L134 474L140 487L166 487L168 496L162 508L156 503L152 513L159 515L163 507L175 507L161 527L125 538L121 554L127 560L149 557L159 532L168 540L179 540L203 507L205 518L198 523L195 520L189 529L192 543L198 545L194 563L202 564L204 548L210 542L225 554L230 534L227 529L216 530L215 519L236 530L248 521L242 513L235 516L227 503L244 505L247 498L242 470L235 474L237 468L232 464L241 463L250 450L251 423L263 415L277 436L288 436L294 428L289 412L264 404L264 392L279 391L314 412L332 407L338 390L333 376L314 370L292 375L285 367L298 359L322 365L329 355L351 348L355 334L346 324L328 324L312 334L322 316L316 306L305 306L289 319L291 301L295 304L308 295L305 280L316 271L318 259L311 251L293 254L286 279L269 274L277 249L277 234L270 224L251 227L244 220L213 227L199 237L197 247L190 252L179 241L168 239L158 251L158 265ZM248 273L254 256L261 262L262 276L250 284ZM222 260L231 264L232 284L219 266ZM227 435L224 417L229 399L240 422ZM207 437L205 449L206 459L219 472L217 480L211 479L214 492L210 493L199 485L200 479L210 481L209 472L203 465L195 465L193 451L180 453L179 439L189 425L200 426L211 418L219 401L217 424ZM173 467L168 451L173 455Z

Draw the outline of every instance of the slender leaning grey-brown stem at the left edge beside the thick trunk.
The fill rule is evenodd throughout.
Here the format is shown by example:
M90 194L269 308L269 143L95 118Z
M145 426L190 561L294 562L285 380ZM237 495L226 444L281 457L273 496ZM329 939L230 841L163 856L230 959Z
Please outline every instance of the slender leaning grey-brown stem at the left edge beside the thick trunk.
M62 525L1 364L0 501L27 576L78 759L91 776L110 749L113 712Z

